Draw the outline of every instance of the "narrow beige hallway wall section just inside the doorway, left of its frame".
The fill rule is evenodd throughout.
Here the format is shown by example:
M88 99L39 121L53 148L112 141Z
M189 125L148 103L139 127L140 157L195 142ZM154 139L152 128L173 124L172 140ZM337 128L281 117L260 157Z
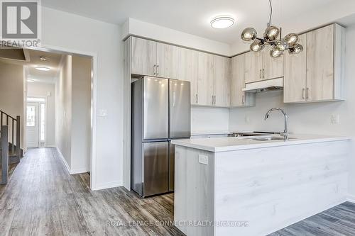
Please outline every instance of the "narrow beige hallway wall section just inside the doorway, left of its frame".
M71 172L90 170L91 58L72 56Z

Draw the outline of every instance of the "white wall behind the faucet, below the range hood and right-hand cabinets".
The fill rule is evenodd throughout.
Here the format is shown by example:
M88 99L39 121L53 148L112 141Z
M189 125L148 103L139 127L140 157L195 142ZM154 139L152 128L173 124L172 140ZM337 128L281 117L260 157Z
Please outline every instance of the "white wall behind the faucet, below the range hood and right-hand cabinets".
M267 121L263 120L269 108L285 108L289 118L289 130L291 133L312 133L324 135L345 135L355 138L355 26L346 29L346 71L345 92L346 101L284 104L282 92L276 91L266 94L257 94L256 106L252 108L234 108L230 111L230 130L283 130L283 116L278 113L271 114ZM332 124L332 114L339 114L340 123ZM245 122L245 116L249 115L250 122ZM351 160L349 163L349 193L355 199L355 145L353 141Z

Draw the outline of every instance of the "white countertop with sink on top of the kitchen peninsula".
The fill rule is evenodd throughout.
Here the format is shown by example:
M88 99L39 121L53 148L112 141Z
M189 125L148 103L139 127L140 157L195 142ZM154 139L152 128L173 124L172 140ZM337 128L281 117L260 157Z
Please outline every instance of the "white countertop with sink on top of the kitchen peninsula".
M336 137L327 135L290 135L288 141L285 140L253 140L255 137L215 137L215 138L200 138L187 140L172 140L174 145L183 147L192 147L209 152L228 152L234 150L246 150L262 147L277 147L285 145L300 145L314 142L332 142L350 140L349 137Z

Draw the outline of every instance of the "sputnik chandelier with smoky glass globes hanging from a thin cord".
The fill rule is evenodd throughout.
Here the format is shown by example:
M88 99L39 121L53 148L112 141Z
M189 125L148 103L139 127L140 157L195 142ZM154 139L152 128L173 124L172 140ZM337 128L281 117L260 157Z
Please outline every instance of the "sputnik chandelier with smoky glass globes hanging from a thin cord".
M268 21L268 28L266 28L263 38L258 38L258 34L254 28L246 28L241 33L241 39L244 41L251 41L250 50L253 52L260 52L266 45L271 45L271 57L280 57L285 50L288 53L297 55L303 51L302 45L298 43L299 38L296 33L289 33L285 38L281 37L281 30L276 26L271 26L271 16L273 16L273 6L270 3L270 18Z

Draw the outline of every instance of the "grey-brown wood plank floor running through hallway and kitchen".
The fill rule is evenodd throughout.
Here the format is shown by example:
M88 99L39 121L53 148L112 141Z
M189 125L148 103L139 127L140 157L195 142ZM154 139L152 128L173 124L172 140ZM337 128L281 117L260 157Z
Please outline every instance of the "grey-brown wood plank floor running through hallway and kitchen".
M0 186L0 235L183 235L172 225L173 194L140 198L123 187L89 190L55 149L33 149ZM269 236L355 235L355 204L343 203Z

